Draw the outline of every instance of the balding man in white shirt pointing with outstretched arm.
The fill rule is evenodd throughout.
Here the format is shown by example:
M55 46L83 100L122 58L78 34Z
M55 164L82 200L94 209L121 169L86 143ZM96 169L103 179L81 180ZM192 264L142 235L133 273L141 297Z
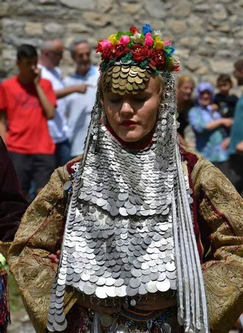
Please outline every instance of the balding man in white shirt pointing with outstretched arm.
M48 120L48 127L53 141L56 143L56 166L66 164L70 160L70 142L68 140L68 124L66 118L67 95L86 92L86 85L78 84L65 87L62 73L58 68L63 57L63 44L58 39L47 40L42 46L42 54L39 59L39 67L42 69L42 77L51 81L57 97L55 117Z

